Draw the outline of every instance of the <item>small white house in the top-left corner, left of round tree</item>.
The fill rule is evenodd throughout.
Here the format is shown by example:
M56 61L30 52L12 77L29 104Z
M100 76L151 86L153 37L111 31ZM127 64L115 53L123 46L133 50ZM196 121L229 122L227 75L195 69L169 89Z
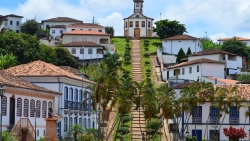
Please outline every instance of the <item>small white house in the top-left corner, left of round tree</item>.
M4 30L11 29L16 33L21 32L22 16L10 14L10 15L0 15L0 32Z

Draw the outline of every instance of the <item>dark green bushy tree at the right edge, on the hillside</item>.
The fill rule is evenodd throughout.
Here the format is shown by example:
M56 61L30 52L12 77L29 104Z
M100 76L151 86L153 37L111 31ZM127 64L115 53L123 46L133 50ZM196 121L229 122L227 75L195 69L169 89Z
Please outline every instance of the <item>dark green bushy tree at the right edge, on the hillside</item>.
M236 38L225 41L221 49L245 57L246 60L249 59L246 43L238 41Z

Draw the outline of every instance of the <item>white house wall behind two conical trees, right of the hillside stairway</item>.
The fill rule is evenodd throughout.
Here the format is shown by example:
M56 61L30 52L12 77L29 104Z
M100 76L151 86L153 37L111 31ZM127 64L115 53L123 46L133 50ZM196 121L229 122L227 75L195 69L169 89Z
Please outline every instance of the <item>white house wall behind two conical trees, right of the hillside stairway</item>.
M168 54L177 55L181 48L185 53L187 53L189 47L192 53L202 51L202 43L200 40L163 40L162 46L163 52Z

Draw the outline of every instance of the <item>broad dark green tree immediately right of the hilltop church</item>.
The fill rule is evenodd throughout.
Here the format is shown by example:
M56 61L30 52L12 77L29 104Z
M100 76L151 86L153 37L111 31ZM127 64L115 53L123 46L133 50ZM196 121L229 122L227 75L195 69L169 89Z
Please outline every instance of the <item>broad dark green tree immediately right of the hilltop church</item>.
M180 24L178 21L170 21L168 19L160 20L155 22L156 28L153 29L157 35L163 39L174 35L182 35L184 32L187 33L184 24Z

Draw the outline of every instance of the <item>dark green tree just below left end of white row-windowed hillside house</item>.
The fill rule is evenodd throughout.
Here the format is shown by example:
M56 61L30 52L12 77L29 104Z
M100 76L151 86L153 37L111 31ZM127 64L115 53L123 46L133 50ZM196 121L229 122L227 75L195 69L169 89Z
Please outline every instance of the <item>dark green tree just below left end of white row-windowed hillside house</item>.
M70 66L76 67L76 60L74 56L66 49L62 47L56 47L56 64L58 66Z

